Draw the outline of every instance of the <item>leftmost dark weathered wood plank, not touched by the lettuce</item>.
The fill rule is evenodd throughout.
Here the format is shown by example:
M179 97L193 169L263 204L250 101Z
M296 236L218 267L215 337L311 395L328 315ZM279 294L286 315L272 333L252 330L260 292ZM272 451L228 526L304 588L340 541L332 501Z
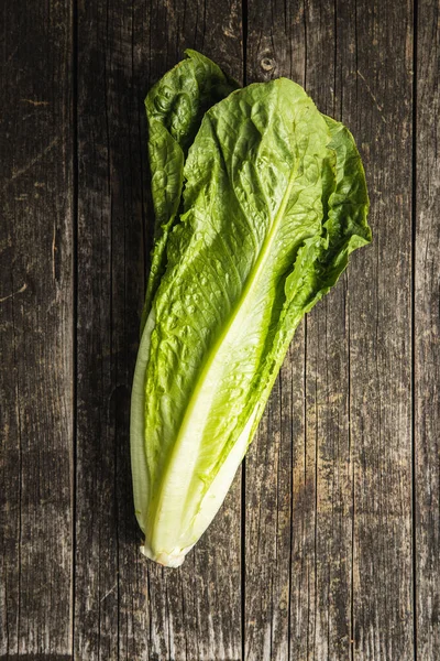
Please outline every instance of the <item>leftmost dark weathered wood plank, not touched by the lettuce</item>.
M70 659L72 13L2 20L0 657Z

